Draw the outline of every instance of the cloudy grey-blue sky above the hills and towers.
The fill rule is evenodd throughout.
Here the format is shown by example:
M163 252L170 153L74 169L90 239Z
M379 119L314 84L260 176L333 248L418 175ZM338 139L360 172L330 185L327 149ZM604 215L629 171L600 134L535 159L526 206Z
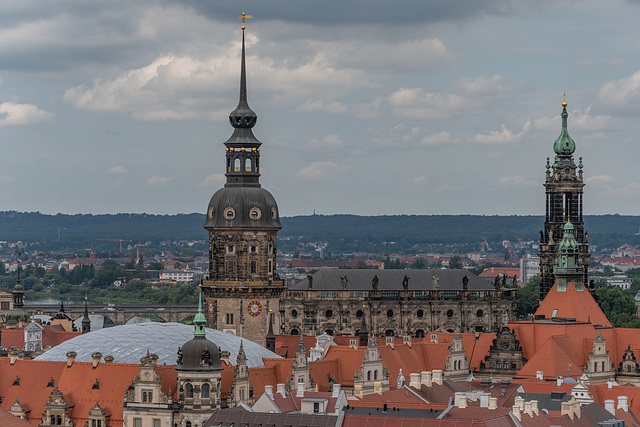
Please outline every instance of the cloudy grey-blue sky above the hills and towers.
M233 0L0 0L0 210L205 213ZM566 92L586 214L637 215L639 0L245 0L282 216L544 214Z

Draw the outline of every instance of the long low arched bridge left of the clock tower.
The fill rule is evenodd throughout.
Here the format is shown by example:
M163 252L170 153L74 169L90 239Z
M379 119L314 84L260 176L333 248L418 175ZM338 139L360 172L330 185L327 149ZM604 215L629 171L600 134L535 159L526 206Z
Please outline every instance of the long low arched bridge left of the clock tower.
M193 316L198 311L197 304L165 305L165 304L89 304L89 314L108 317L116 325L124 325L134 317L149 317L163 322L180 322ZM60 305L25 304L29 313L55 316ZM73 320L82 317L84 304L65 304L64 312Z

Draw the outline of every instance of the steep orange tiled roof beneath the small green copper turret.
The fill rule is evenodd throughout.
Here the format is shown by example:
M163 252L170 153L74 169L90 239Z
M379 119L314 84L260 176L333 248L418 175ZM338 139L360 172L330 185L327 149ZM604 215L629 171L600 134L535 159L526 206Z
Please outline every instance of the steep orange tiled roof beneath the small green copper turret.
M558 284L555 283L535 315L546 319L564 317L609 328L612 326L591 293L581 284L576 288L573 282L567 284L566 292L558 292Z

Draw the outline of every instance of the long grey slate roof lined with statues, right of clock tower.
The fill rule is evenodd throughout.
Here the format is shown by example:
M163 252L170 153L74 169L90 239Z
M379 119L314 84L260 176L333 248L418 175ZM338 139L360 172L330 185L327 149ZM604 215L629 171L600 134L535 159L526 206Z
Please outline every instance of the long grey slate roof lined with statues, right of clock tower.
M371 290L371 282L374 276L378 276L379 290L401 290L404 277L409 278L410 291L424 291L433 289L433 276L440 278L440 289L462 290L462 278L469 277L469 290L491 290L492 285L482 280L467 270L320 270L313 274L312 288L315 290L342 290L340 277L346 276L347 290ZM308 279L291 286L292 290L306 290L309 287Z

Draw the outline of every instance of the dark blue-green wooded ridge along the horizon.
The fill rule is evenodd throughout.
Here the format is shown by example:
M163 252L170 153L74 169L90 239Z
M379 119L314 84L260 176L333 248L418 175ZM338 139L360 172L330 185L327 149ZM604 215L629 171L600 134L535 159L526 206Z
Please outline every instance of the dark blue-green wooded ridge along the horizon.
M91 247L94 239L206 240L202 214L150 215L44 215L39 212L0 212L0 240L39 241L55 248ZM537 240L541 216L484 215L312 215L282 218L280 247L288 242L328 241L331 250L390 249L414 245L469 245L486 239ZM585 217L589 241L601 247L622 243L640 245L639 216L601 215ZM385 243L386 242L386 243ZM106 242L104 243L107 244ZM112 247L114 243L109 243Z

